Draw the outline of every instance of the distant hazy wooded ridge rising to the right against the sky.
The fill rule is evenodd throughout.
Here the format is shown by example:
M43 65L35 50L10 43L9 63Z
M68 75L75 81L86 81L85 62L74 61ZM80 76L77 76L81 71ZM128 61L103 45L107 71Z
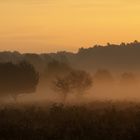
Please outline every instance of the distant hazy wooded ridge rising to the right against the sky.
M17 63L22 60L31 63L39 72L43 72L53 60L69 63L73 68L90 72L95 72L98 68L107 68L113 73L125 70L135 72L140 69L140 42L94 45L89 48L80 48L76 53L67 51L42 54L0 52L0 62Z

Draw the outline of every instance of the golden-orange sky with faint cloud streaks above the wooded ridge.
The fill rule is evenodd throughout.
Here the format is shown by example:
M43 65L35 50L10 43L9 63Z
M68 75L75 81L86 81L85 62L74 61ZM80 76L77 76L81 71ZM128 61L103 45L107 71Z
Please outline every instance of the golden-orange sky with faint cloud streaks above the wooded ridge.
M0 0L0 51L77 51L140 39L139 0Z

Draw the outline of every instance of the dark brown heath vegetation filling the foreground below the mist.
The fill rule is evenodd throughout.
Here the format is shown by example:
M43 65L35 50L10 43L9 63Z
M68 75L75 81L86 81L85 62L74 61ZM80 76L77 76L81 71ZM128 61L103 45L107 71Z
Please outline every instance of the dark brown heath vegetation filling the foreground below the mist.
M140 140L140 104L4 107L0 140Z

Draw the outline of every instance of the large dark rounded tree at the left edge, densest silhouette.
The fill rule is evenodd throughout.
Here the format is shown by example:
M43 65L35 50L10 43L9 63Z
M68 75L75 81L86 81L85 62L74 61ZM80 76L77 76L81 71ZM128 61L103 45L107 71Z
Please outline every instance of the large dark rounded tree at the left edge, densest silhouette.
M35 92L38 80L38 73L27 62L0 63L0 95L11 95L16 99L21 93Z

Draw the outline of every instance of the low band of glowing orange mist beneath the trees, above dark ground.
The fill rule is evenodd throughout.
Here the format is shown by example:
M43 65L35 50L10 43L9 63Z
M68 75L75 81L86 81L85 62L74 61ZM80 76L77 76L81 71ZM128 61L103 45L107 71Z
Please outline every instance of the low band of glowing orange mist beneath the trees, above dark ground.
M82 95L69 93L66 97L65 104L87 104L95 101L123 101L123 102L140 102L140 86L120 84L93 85L91 89ZM21 94L17 100L13 100L11 96L0 98L1 104L54 104L63 103L62 95L54 92L52 89L42 88L32 94Z

